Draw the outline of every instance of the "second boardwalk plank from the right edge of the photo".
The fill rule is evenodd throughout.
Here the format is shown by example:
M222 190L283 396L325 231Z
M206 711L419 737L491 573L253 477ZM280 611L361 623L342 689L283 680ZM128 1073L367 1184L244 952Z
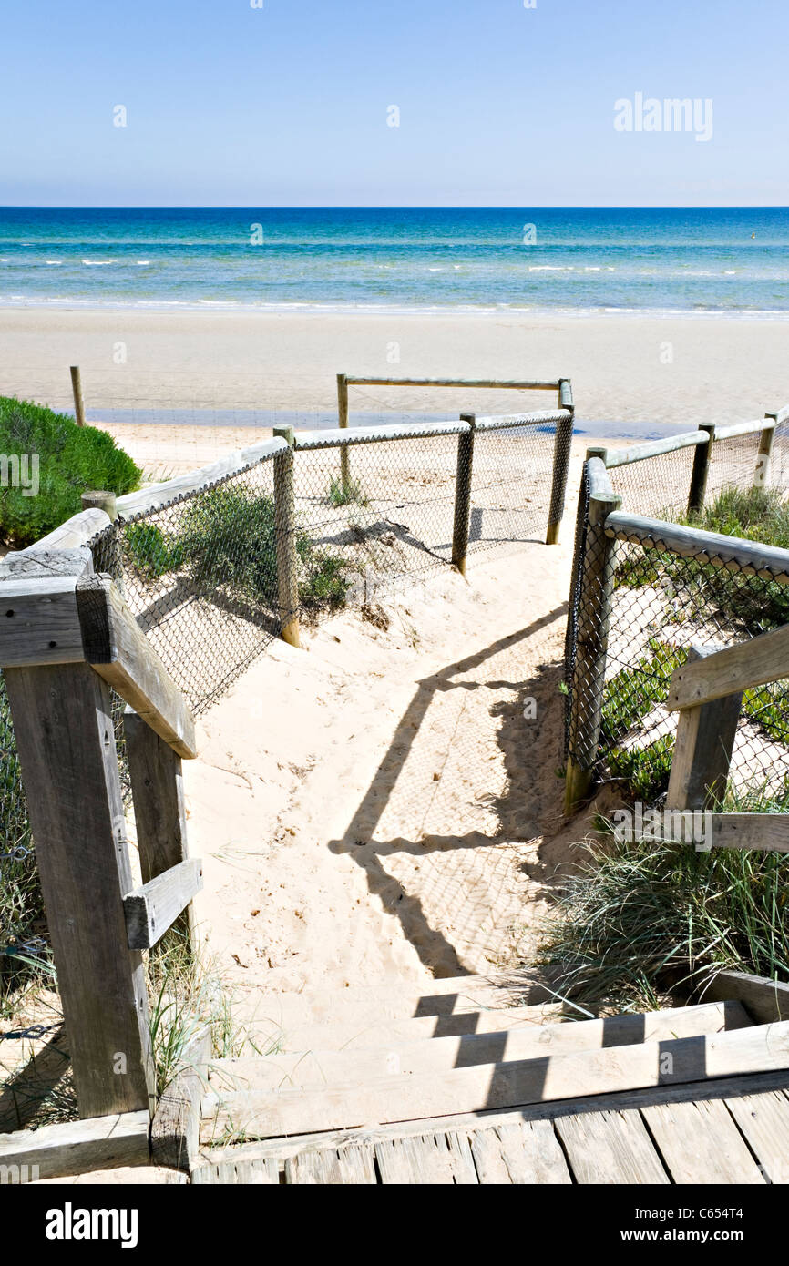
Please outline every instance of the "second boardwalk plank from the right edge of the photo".
M722 1100L655 1104L641 1115L674 1182L765 1181Z

